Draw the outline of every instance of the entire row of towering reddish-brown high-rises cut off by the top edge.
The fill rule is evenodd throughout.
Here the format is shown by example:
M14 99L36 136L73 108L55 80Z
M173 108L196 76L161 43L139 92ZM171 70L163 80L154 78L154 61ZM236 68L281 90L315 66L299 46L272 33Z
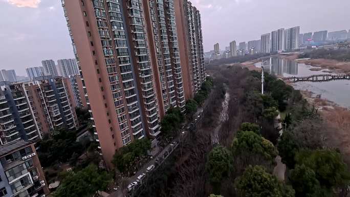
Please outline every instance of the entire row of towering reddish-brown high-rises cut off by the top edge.
M200 14L173 0L62 1L62 7L94 137L111 166L116 149L156 138L165 112L184 110L185 98L200 89Z

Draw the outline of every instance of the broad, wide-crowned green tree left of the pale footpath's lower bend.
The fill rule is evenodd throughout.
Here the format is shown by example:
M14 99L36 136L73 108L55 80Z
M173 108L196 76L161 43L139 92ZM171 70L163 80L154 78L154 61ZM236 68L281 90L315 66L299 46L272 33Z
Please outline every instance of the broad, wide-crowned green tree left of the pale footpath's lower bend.
M248 131L238 133L231 144L231 151L243 167L248 164L273 164L277 156L276 147L260 135Z

